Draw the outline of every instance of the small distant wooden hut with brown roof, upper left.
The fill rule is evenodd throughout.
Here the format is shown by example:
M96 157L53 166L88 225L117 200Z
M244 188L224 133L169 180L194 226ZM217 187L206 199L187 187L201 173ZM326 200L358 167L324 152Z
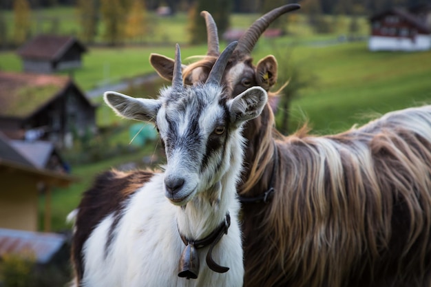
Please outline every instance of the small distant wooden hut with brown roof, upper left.
M52 73L82 66L87 48L72 36L39 35L19 48L24 72Z

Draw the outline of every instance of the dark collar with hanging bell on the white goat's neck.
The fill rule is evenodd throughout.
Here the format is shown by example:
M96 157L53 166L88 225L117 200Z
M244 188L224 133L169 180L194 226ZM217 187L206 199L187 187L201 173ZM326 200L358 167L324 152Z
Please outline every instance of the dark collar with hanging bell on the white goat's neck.
M231 226L231 215L226 213L224 221L217 227L211 234L202 240L190 240L180 233L182 242L185 244L185 249L182 251L180 258L180 268L178 277L186 277L187 279L198 278L199 273L199 256L196 249L210 246L207 253L207 265L208 267L218 273L225 273L229 270L228 267L220 266L214 262L212 252L215 244L217 244L224 234L227 234L227 230Z

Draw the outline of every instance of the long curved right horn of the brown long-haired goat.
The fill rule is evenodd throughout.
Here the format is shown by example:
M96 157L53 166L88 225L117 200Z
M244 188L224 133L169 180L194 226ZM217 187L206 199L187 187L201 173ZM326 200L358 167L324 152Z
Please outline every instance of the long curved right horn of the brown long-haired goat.
M251 51L253 50L253 47L255 46L260 35L262 35L266 28L268 28L268 26L275 19L284 13L291 12L299 8L301 8L299 4L287 4L264 14L262 17L257 19L242 35L238 41L238 46L236 47L235 53L238 53L240 56L251 54Z

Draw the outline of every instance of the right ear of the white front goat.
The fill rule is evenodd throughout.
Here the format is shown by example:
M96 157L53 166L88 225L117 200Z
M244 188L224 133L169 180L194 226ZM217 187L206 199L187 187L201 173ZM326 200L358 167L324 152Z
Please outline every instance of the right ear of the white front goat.
M246 120L256 118L262 113L267 100L268 94L262 87L251 87L235 98L228 100L227 106L231 123L239 126Z

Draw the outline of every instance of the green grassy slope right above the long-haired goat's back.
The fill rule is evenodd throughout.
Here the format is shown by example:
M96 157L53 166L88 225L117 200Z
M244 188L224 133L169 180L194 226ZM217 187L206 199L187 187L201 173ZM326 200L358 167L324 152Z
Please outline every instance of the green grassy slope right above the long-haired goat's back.
M431 51L368 52L366 43L314 50L298 53L318 81L293 103L297 124L308 118L322 134L364 123L367 114L431 103Z

